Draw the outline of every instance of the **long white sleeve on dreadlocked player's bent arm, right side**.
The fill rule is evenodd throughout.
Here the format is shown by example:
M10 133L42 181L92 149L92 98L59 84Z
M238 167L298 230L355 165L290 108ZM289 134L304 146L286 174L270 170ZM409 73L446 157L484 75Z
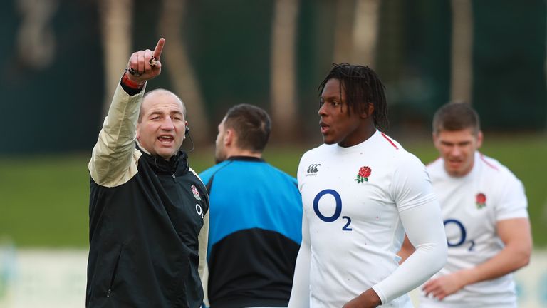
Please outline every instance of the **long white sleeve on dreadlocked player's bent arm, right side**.
M393 197L415 252L395 272L375 284L382 304L410 292L442 269L447 261L447 240L437 197L424 165L411 156L394 174Z

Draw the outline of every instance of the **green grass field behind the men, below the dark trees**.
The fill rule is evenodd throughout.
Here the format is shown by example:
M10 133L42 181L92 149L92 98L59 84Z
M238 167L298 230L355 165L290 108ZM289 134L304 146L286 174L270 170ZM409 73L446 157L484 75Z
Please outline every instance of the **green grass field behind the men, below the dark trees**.
M485 140L481 151L507 165L524 183L533 240L547 246L547 142L545 136ZM424 163L437 158L429 140L402 145ZM308 147L269 145L264 158L291 175ZM17 247L87 247L89 175L85 155L0 158L0 242ZM190 153L201 172L213 163L213 149Z

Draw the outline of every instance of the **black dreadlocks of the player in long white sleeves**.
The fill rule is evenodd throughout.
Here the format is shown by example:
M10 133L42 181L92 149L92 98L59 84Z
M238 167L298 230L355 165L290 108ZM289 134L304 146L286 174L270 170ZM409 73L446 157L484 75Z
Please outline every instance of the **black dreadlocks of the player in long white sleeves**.
M319 85L319 96L321 96L325 85L330 79L340 81L340 96L343 88L348 101L348 113L366 111L368 108L367 103L373 103L375 127L379 130L387 129L389 121L387 120L385 86L371 68L349 63L333 63L333 68Z

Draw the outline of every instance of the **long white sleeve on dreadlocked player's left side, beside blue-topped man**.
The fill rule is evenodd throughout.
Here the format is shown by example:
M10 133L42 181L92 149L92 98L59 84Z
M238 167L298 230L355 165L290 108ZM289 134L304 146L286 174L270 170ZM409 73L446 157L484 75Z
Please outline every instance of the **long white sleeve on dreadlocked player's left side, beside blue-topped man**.
M310 261L310 230L308 227L306 212L303 212L302 242L300 245L300 250L298 250L298 257L296 257L293 289L291 290L291 299L288 301L288 308L310 307Z

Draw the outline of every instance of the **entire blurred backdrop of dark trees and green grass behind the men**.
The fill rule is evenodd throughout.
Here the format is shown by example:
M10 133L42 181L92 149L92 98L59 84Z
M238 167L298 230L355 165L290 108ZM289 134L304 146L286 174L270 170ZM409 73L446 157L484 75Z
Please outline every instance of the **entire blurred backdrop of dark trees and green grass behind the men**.
M87 245L90 151L130 53L159 37L164 69L147 90L187 104L195 170L212 165L226 110L251 103L273 118L266 160L295 175L321 143L318 83L331 63L362 63L385 83L387 133L424 163L433 112L472 103L484 153L523 180L547 245L544 0L4 2L0 236L16 245Z

